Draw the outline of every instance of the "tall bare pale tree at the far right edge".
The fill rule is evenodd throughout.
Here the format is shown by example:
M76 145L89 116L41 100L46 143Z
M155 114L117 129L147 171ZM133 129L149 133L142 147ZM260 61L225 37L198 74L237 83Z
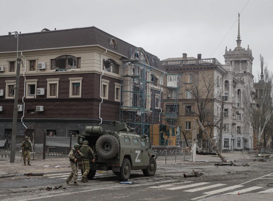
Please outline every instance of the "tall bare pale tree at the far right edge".
M256 133L257 150L260 148L261 136L265 132L265 127L273 113L273 74L268 70L267 65L265 65L262 55L260 55L260 63L261 79L256 83L256 86L259 88L258 98L254 101L249 89L244 90L243 93L244 118Z

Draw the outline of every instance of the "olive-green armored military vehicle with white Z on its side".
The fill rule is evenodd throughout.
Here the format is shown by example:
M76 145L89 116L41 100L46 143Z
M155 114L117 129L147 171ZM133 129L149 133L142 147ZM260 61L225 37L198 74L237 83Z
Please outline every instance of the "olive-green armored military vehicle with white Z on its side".
M115 132L103 130L101 126L86 126L86 133L78 135L78 143L84 140L96 154L95 163L90 160L90 171L87 178L95 176L96 170L112 170L120 181L126 181L131 170L142 170L145 176L153 176L157 169L156 154L150 149L147 136L140 136L126 125L113 121ZM79 169L83 172L82 163Z

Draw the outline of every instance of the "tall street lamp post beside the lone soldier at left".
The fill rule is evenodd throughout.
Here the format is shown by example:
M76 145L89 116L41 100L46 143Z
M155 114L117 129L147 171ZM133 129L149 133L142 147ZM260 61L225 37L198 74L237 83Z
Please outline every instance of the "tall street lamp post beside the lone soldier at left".
M16 60L16 79L15 79L15 88L14 88L14 107L13 107L13 116L12 116L12 141L11 141L11 152L10 152L10 163L15 161L15 143L16 143L16 132L17 132L17 116L18 116L18 94L19 94L19 78L20 78L20 65L21 59L18 58L18 42L19 35L18 32L14 33L14 37L17 38L17 60ZM12 33L8 32L8 35Z

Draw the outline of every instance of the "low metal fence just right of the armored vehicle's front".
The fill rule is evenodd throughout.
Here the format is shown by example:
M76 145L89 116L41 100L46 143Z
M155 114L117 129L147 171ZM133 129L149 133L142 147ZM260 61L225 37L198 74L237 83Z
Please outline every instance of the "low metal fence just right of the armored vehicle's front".
M169 151L169 150L153 150L156 155L156 161L185 161L185 160L192 160L192 151L185 151L185 150L174 150L174 151Z

